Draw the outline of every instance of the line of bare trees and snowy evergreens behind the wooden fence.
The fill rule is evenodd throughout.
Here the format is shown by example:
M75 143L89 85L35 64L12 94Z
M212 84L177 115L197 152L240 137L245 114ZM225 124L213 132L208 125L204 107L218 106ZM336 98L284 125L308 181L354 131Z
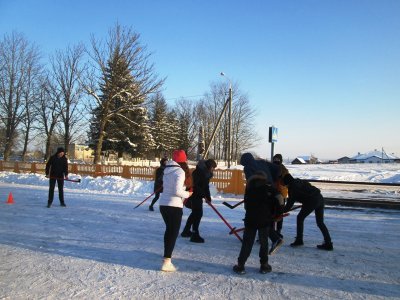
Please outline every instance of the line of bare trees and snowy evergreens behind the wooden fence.
M211 83L197 100L168 104L151 62L151 53L131 27L116 24L106 38L90 37L56 50L43 63L40 49L24 34L0 41L0 153L4 160L28 147L45 159L54 145L86 144L94 163L110 153L153 159L184 149L190 158L209 147L209 157L224 160L228 116L221 115L227 83ZM254 146L255 110L239 85L232 86L232 160ZM211 141L212 133L220 125ZM200 137L200 138L199 138Z

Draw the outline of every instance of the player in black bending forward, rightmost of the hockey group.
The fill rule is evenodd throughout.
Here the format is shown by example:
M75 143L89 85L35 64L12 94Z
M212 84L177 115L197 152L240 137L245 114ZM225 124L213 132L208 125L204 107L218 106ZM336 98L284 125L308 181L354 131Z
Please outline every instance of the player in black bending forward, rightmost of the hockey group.
M318 228L324 236L324 243L317 245L318 249L333 250L333 244L328 228L324 223L324 197L321 191L312 186L308 181L293 178L292 175L286 174L283 177L283 183L288 186L289 197L284 211L289 211L294 202L302 203L301 210L297 215L297 236L296 240L290 244L292 247L304 245L303 243L303 230L305 218L315 211L315 220Z

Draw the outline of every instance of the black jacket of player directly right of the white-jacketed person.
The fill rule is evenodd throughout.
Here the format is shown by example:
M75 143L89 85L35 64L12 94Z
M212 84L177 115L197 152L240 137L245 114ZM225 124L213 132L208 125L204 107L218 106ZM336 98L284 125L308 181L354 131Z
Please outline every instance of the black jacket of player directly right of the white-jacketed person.
M213 174L208 170L205 161L200 160L192 173L193 194L189 199L202 201L205 198L207 201L211 201L210 180L212 177Z

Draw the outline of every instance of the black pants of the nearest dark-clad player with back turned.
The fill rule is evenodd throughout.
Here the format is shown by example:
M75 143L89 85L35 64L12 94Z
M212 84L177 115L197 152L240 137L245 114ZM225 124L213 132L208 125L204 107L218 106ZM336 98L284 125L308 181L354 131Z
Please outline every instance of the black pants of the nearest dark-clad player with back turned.
M245 227L243 233L243 242L242 248L240 249L238 264L244 265L251 254L251 250L253 249L254 240L256 238L256 233L258 231L258 238L260 240L260 264L268 263L268 233L270 231L270 227L264 228L252 228Z

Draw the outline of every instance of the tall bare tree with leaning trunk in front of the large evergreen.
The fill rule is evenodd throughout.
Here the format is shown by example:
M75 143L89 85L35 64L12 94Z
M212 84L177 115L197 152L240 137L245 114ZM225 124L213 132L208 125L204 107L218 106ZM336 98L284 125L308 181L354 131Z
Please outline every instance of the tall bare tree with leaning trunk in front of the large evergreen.
M116 25L109 31L106 42L98 41L92 36L92 51L89 53L94 62L93 72L84 83L86 92L94 100L93 111L96 111L96 145L94 163L100 161L106 126L112 120L124 120L126 126L137 126L126 116L134 114L151 94L159 91L164 80L157 79L153 64L149 63L150 54L139 42L139 34L131 28ZM110 63L116 59L127 64L133 85L129 89L112 89ZM106 90L106 92L104 92ZM115 105L118 101L118 105ZM139 103L139 104L135 104Z

